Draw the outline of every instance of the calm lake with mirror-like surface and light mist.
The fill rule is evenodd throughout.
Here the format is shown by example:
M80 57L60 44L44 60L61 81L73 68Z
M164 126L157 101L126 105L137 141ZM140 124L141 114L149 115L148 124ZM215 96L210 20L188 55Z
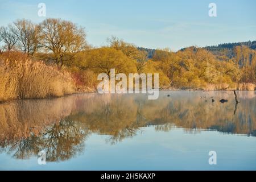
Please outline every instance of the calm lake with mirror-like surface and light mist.
M256 92L237 95L238 105L221 91L0 104L0 169L255 170ZM209 164L210 151L217 164Z

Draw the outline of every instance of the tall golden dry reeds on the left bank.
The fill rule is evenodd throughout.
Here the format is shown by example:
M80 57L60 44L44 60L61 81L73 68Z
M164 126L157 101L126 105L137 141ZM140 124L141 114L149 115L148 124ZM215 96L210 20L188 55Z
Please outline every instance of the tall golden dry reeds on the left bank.
M0 102L64 96L74 91L70 73L43 61L0 60Z

